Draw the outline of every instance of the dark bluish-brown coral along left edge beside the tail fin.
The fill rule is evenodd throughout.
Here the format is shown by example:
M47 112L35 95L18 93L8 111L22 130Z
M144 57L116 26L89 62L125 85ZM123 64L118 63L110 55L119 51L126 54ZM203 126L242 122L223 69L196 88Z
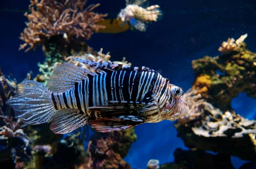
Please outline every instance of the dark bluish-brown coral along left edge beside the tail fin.
M16 91L16 80L9 80L0 72L0 166L3 168L23 166L32 158L31 140L20 129L22 122L13 118L13 110L5 104Z

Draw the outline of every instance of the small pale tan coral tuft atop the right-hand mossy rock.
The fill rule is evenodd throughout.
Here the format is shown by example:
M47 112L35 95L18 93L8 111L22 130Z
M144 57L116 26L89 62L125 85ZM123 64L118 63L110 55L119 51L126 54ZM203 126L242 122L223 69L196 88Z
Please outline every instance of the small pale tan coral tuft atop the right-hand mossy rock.
M245 38L247 38L247 34L241 35L241 37L236 39L236 41L234 38L228 38L227 42L221 43L221 47L218 48L218 51L222 54L229 54L232 51L238 51Z

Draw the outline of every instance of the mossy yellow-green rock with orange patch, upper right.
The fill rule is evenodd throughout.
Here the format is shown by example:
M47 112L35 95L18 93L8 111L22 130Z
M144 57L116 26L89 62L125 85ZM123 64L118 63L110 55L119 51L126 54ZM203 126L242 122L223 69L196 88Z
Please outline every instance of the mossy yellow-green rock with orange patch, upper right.
M243 37L244 38L244 37ZM239 93L256 98L256 53L249 51L243 39L239 50L221 56L192 61L195 71L193 89L199 87L204 99L221 110L231 110L231 101Z

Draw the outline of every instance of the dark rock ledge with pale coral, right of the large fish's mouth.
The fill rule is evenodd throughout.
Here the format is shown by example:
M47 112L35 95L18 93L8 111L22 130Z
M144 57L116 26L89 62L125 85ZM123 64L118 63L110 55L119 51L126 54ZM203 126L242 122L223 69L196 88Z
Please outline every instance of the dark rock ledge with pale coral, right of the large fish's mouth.
M189 113L175 123L178 137L185 145L255 160L256 121L233 111L222 112L195 93L196 90L189 90L184 94L189 103Z

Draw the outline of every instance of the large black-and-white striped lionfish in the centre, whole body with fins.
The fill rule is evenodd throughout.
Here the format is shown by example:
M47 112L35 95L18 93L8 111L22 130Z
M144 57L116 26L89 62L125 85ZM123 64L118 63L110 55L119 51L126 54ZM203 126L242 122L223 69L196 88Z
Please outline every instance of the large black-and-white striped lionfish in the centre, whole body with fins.
M50 89L32 80L21 82L6 102L15 118L31 125L51 121L50 129L58 134L85 124L111 132L174 121L189 110L182 89L153 69L74 59L94 71L63 63L54 68Z

